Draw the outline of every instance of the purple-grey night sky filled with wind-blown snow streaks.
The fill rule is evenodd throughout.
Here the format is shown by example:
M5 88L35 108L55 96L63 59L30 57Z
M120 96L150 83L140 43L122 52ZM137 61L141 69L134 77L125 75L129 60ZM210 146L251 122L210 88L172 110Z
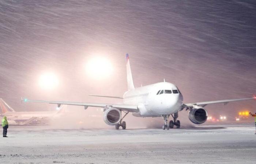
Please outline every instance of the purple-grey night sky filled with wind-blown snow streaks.
M256 93L255 20L255 1L2 0L0 97L16 111L56 108L21 104L22 96L121 103L88 95L123 95L126 53L135 86L165 78L179 87L185 103L251 97ZM87 61L95 57L108 59L112 73L99 79L86 74ZM58 78L56 86L39 85L47 73ZM256 112L253 103L206 109L233 118L240 110Z

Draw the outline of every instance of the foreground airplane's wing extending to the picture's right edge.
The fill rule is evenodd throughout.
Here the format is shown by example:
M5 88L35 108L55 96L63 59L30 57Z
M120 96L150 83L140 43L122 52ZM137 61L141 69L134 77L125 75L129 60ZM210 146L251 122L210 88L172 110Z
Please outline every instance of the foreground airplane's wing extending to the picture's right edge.
M204 106L209 105L209 104L218 104L218 103L223 103L224 105L226 105L229 102L244 101L244 100L249 100L249 99L256 99L256 96L253 95L253 97L251 97L251 98L225 99L225 100L218 100L218 101L195 102L195 103L188 103L188 104L184 104L184 105L188 106L188 107L193 107L193 105L204 107Z

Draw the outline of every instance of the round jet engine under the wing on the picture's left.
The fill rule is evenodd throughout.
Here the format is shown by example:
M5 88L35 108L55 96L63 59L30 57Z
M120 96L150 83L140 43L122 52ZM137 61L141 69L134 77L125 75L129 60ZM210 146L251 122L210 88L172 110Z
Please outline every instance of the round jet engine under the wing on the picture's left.
M116 125L121 120L121 112L116 108L106 109L103 113L103 120L108 125Z

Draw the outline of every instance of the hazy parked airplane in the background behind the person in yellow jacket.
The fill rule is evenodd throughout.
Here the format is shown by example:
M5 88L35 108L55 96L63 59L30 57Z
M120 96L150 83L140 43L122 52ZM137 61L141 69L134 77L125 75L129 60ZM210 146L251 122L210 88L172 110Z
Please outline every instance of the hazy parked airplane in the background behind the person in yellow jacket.
M35 125L47 124L50 118L59 117L65 112L61 106L57 112L15 112L2 98L0 98L0 116L6 116L9 124L15 125Z

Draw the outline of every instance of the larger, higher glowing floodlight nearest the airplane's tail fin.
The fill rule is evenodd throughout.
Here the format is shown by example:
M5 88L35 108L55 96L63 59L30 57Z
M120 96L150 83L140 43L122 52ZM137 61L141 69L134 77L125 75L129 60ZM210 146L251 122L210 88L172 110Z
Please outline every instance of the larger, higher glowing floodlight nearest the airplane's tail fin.
M108 59L93 58L86 63L86 73L90 78L102 79L112 74L113 67Z

